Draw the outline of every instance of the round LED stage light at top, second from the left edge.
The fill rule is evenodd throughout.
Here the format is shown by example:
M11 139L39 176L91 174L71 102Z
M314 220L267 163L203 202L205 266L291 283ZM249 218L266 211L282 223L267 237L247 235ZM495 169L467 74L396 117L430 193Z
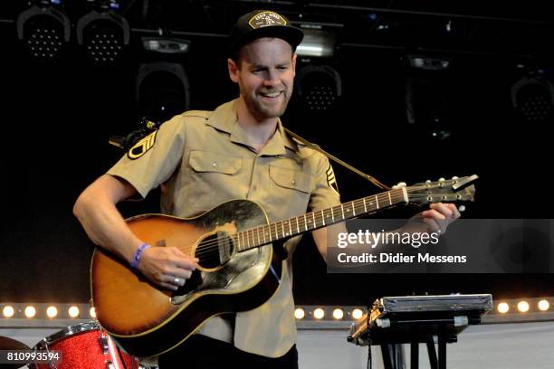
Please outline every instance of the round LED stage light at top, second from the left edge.
M109 65L119 60L123 46L129 44L129 23L115 13L119 9L115 0L98 0L94 5L77 22L77 42L95 64Z

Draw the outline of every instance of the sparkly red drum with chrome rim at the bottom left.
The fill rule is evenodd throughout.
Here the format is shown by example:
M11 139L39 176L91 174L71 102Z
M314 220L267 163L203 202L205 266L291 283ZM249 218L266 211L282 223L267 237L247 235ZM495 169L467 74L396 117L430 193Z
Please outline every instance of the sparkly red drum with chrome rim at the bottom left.
M60 351L54 364L33 364L34 369L138 369L134 357L119 350L97 322L68 326L43 338L33 350Z

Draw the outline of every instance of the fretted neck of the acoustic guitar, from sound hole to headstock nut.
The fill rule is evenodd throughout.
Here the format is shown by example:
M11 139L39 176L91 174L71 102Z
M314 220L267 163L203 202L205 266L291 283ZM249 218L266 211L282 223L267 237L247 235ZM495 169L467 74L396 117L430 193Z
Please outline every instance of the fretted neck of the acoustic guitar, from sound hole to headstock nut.
M359 216L407 203L406 187L341 203L317 212L305 213L280 222L248 229L234 234L237 251L247 251L273 241L282 241L304 232L344 222Z

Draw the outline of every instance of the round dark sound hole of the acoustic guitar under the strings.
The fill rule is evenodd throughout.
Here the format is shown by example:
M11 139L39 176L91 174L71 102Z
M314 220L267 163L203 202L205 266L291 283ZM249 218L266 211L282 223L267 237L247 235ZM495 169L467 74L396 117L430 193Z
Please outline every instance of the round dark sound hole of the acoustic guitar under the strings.
M233 239L227 232L210 234L198 243L195 256L198 264L205 269L214 269L231 260L234 252Z

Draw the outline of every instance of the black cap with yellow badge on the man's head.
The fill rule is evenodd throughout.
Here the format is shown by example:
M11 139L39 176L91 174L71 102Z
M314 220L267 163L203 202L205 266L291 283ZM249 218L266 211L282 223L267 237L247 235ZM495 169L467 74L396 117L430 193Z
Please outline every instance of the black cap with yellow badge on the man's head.
M292 50L296 50L304 33L281 14L271 10L254 10L241 16L234 24L229 36L229 52L234 54L246 43L262 37L283 39L291 44Z

